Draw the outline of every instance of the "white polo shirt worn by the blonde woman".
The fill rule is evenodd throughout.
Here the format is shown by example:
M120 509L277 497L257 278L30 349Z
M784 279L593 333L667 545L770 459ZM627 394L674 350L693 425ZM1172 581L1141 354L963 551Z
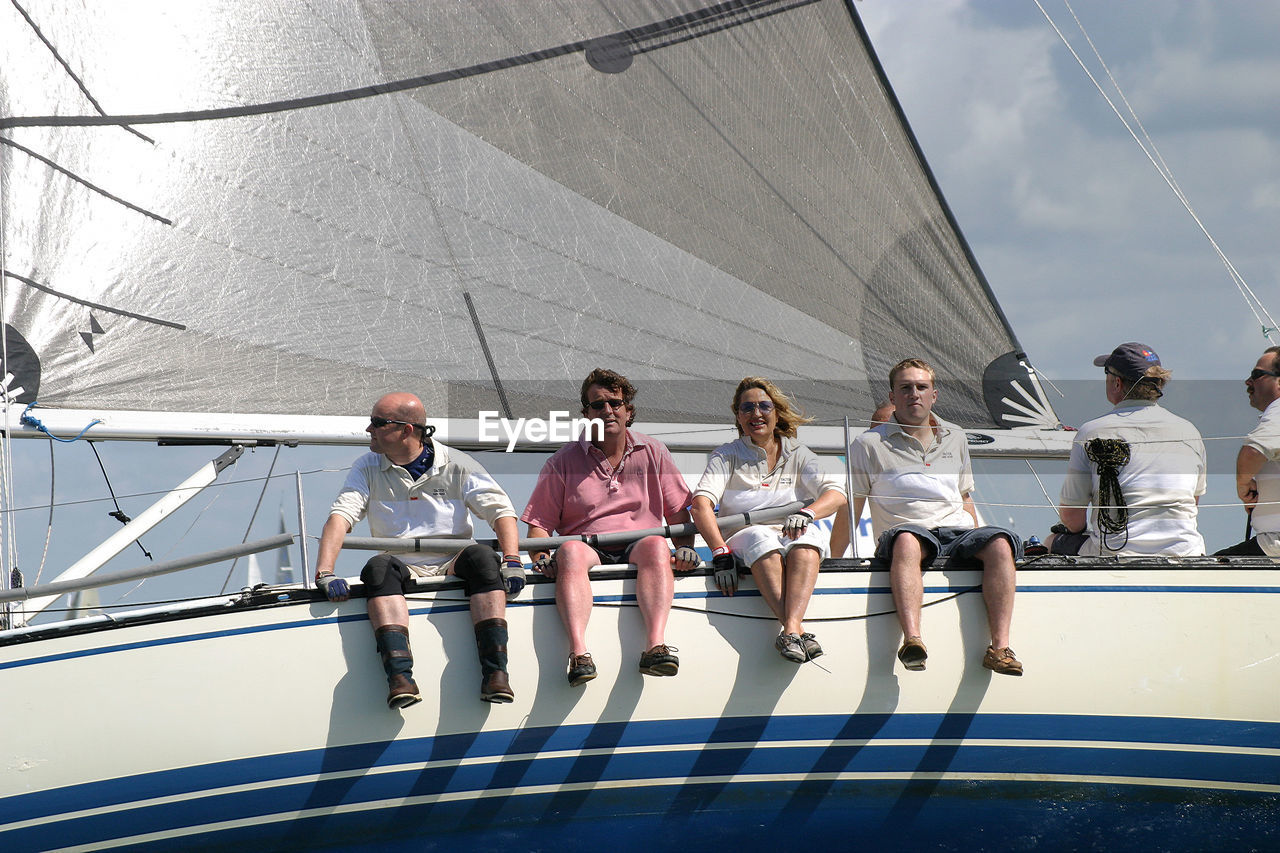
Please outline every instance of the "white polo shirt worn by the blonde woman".
M694 497L719 505L719 515L737 515L792 501L817 501L823 492L845 493L835 474L822 469L818 455L795 438L782 437L778 461L769 469L763 447L742 437L712 451ZM771 525L772 526L772 525ZM781 521L776 525L781 529Z

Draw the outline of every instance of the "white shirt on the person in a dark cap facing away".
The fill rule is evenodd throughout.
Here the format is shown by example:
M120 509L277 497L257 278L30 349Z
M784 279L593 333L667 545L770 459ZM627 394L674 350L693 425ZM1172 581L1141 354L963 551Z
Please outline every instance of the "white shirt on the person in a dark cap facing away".
M1100 534L1098 473L1084 452L1084 443L1094 438L1129 443L1129 462L1119 471L1120 493L1129 507L1128 542L1124 533ZM1196 426L1155 400L1126 400L1075 434L1059 502L1094 505L1082 556L1190 557L1204 553L1204 539L1196 528L1196 498L1203 493L1204 442ZM1120 549L1114 551L1116 547Z

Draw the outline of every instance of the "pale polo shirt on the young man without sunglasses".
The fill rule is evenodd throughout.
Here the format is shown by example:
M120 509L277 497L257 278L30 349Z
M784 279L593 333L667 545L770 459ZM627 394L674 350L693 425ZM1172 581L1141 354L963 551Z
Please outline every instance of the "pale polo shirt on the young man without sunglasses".
M881 535L900 524L973 528L964 496L973 492L973 466L964 430L937 415L933 443L891 421L868 429L849 446L854 497L870 503L872 529Z

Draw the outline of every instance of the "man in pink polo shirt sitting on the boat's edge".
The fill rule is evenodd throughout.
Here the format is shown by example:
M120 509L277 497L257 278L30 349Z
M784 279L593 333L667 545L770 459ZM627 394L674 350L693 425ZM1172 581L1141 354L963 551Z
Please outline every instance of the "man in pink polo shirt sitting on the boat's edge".
M676 470L671 452L648 435L627 429L635 421L636 389L626 377L596 368L582 382L582 415L603 426L584 433L559 448L538 475L521 521L529 535L622 533L660 528L663 521L689 521L692 496ZM599 441L589 441L602 435ZM663 537L649 535L618 548L600 549L585 542L567 542L552 557L547 551L529 556L534 567L556 579L556 606L568 631L568 683L595 678L595 662L586 651L586 622L591 617L593 566L631 562L636 566L636 601L645 621L645 649L640 671L676 675L680 658L667 646L667 615L675 597L672 571L698 567L694 537L676 539L672 553Z

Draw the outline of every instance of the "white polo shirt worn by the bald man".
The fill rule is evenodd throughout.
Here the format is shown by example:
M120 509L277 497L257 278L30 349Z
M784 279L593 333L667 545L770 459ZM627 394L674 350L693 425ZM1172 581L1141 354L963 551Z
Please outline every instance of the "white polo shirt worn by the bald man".
M431 467L415 480L381 453L365 453L351 466L330 515L340 515L352 528L366 515L375 538L451 538L475 535L467 510L490 526L516 517L511 498L489 471L462 451L434 442ZM410 566L439 566L452 553L399 553Z

